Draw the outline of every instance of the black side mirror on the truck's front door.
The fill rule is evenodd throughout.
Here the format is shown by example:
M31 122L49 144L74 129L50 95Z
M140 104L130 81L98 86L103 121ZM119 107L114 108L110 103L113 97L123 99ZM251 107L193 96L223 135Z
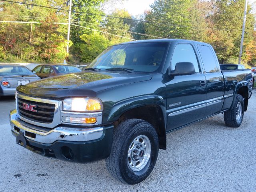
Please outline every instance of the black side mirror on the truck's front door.
M169 75L175 76L175 75L192 75L195 73L195 67L194 64L190 62L179 62L176 63L175 69L170 70L169 69Z

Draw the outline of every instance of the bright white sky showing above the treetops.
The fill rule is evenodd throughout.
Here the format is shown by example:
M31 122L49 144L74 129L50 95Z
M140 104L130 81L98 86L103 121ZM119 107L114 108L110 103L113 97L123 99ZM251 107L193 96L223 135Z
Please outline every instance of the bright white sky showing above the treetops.
M256 0L249 0L249 3L256 3ZM154 0L124 0L124 2L120 2L116 4L114 7L106 10L107 13L110 13L114 8L118 9L126 9L131 15L136 16L139 14L143 14L144 10L150 9L150 4L154 3ZM256 6L254 6L254 13L256 12Z

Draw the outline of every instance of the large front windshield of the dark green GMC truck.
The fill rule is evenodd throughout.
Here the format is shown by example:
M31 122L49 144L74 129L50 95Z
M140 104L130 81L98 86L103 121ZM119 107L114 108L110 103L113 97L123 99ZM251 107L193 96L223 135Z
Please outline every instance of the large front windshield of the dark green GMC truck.
M102 52L86 68L134 72L158 72L166 56L167 42L132 43L111 46ZM111 69L113 68L113 69ZM120 70L127 72L125 70Z

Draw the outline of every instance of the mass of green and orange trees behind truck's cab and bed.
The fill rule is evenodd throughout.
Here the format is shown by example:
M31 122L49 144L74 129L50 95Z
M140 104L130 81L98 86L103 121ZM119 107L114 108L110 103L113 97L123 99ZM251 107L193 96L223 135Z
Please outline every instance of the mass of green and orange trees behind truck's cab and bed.
M220 62L237 60L242 34L244 0L155 0L146 16L147 34L208 42ZM248 5L244 37L244 62L255 62L254 26ZM140 28L138 28L140 29ZM248 48L247 48L248 46Z

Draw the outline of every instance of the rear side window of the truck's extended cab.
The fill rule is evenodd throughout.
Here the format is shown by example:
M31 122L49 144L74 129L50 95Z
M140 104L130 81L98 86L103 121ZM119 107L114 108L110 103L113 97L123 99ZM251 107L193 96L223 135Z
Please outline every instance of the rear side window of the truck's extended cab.
M197 46L200 56L204 64L204 70L206 73L214 73L218 71L215 57L212 50L208 46L198 45Z

